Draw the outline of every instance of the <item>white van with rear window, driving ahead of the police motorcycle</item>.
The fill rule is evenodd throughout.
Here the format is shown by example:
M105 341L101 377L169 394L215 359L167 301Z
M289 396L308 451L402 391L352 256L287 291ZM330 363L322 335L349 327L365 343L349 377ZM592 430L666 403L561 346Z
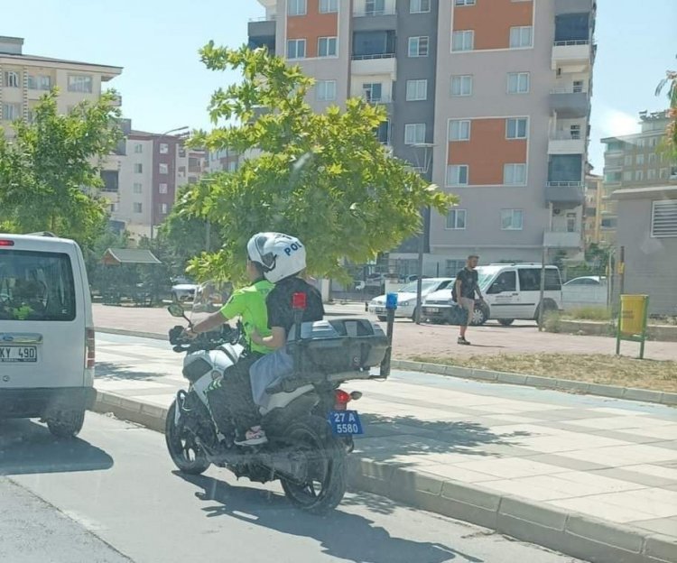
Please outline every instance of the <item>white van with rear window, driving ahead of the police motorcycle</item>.
M73 437L94 399L94 325L72 240L0 233L0 419Z

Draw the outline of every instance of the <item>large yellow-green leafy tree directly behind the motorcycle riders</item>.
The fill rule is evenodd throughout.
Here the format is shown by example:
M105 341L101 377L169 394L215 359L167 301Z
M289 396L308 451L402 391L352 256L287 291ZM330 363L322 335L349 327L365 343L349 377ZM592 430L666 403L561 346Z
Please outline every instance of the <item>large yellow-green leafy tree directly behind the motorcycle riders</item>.
M264 49L209 42L200 52L208 69L238 69L244 80L211 97L212 123L227 125L191 143L258 155L186 194L190 215L209 220L222 243L191 264L199 278L242 272L243 249L257 231L299 236L309 272L345 278L343 258L365 263L419 232L422 208L446 214L455 202L378 142L383 108L356 98L344 111L316 114L305 101L313 80L298 66Z

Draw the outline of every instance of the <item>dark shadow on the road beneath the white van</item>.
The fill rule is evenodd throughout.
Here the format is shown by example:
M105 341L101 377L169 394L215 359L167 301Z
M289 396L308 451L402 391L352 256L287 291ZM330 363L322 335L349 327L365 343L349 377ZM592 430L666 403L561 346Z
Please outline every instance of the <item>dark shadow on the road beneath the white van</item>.
M54 438L45 426L32 420L0 420L0 475L93 471L112 466L112 457L83 439Z

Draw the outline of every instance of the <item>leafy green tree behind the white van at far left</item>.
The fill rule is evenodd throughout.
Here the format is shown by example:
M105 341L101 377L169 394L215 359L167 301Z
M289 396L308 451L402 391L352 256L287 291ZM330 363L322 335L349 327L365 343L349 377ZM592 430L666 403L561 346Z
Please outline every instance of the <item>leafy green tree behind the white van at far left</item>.
M31 123L0 129L0 226L15 232L52 231L91 244L107 220L97 198L100 163L121 138L114 92L57 112L57 90L33 108Z

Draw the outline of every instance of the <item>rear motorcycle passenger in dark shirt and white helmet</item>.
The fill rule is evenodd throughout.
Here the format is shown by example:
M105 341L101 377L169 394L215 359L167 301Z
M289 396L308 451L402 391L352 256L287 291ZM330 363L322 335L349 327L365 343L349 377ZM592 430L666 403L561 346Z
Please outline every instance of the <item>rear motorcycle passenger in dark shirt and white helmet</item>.
M282 233L259 233L249 241L247 252L252 260L263 264L265 278L275 284L265 301L267 329L256 328L251 335L253 344L265 346L268 350L274 350L274 353L265 355L252 365L251 384L247 380L246 387L243 382L243 387L236 391L231 387L236 383L234 380L225 382L231 387L232 394L227 395L227 401L237 429L244 430L244 439L236 440L236 444L251 446L266 440L264 430L259 425L258 410L252 408L252 394L257 405L264 404L266 388L293 371L292 356L287 353L285 346L294 323L293 294L306 294L303 322L321 320L324 307L320 291L301 278L306 268L306 250L298 238ZM238 401L238 397L245 392L249 400Z

